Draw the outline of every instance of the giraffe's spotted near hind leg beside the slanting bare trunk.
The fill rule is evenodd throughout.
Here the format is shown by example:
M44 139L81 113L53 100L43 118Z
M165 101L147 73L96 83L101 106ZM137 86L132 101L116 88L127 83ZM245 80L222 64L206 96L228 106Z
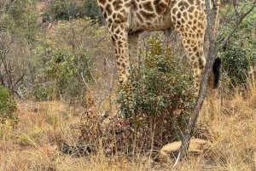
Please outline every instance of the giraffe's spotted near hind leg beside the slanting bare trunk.
M183 3L173 5L172 23L182 38L189 64L193 69L194 86L196 94L198 94L201 76L206 65L204 55L204 39L207 29L206 14L203 8L184 10Z

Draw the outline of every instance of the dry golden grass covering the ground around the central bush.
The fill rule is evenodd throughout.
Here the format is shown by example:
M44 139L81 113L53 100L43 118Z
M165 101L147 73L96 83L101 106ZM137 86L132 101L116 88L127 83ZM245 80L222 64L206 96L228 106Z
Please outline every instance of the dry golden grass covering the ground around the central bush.
M198 123L212 130L212 149L190 156L174 170L256 170L256 95L233 100L207 99ZM170 170L169 162L153 162L148 155L133 157L101 152L90 157L73 157L58 151L61 140L78 141L83 108L75 110L58 101L20 102L20 123L0 129L0 170Z

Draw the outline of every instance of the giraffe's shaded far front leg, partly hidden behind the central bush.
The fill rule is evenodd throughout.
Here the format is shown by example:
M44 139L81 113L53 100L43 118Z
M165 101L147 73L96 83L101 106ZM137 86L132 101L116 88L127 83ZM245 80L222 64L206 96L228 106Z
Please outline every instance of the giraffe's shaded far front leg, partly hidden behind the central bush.
M128 34L128 47L129 47L129 55L130 55L130 63L133 66L138 65L138 38L139 38L139 32L134 32L131 34Z

